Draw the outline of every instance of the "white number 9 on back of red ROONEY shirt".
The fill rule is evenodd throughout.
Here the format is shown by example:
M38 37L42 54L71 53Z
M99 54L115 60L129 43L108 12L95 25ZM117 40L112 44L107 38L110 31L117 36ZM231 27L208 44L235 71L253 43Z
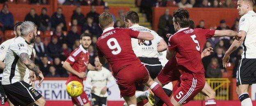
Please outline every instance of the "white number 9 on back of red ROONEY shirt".
M114 45L111 45L111 42L114 43ZM121 52L121 47L119 45L119 43L117 42L116 38L110 38L109 40L107 40L107 46L108 48L110 48L112 51L113 55L117 55Z

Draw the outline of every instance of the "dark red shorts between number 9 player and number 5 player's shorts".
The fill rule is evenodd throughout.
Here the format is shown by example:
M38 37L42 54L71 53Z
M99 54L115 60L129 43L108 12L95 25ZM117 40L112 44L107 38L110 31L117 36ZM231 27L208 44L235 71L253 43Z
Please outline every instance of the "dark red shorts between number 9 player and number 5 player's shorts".
M175 58L172 58L165 64L165 67L160 71L157 78L163 85L168 84L169 82L176 81L180 78L181 73L177 68L177 61Z

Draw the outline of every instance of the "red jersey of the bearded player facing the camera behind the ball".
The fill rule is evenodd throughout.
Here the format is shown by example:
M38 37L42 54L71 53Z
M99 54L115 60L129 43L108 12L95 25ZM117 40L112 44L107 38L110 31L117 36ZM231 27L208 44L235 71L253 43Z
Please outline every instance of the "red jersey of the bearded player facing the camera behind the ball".
M82 45L76 48L66 59L66 62L71 64L72 68L77 72L85 72L87 70L87 66L89 64L89 55L90 53L86 51ZM70 74L69 79L67 80L66 84L71 81L79 81L82 82L83 78L80 78L76 75Z

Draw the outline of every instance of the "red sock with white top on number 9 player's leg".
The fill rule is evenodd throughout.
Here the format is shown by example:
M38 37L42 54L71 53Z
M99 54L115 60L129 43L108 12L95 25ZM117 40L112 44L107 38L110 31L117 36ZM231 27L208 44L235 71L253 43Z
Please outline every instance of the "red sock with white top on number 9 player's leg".
M157 83L154 82L150 86L151 91L154 93L155 96L157 96L159 99L161 99L167 106L172 106L171 100L169 97L165 94L165 91L162 89L162 87Z

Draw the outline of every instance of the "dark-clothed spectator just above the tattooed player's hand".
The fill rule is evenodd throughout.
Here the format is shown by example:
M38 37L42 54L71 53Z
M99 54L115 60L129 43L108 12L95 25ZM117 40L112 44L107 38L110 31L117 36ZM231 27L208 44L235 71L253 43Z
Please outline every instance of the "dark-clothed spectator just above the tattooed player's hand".
M48 60L48 57L42 57L39 68L42 71L43 75L47 75L49 73L50 61Z

